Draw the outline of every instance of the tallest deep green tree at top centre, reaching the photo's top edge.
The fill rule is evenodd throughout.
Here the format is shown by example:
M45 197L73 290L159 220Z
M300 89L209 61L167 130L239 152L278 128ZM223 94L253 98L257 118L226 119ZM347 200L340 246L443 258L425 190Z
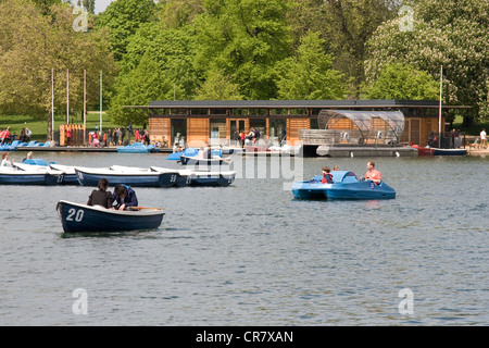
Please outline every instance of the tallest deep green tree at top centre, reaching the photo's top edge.
M246 99L277 97L274 67L291 53L285 0L205 0L197 66L221 71Z

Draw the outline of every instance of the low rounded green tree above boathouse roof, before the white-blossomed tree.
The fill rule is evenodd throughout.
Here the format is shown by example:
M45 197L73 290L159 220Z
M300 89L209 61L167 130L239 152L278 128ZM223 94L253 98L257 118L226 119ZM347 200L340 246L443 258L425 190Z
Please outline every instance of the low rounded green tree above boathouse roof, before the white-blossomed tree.
M439 85L426 72L402 63L390 63L365 92L369 99L436 100Z

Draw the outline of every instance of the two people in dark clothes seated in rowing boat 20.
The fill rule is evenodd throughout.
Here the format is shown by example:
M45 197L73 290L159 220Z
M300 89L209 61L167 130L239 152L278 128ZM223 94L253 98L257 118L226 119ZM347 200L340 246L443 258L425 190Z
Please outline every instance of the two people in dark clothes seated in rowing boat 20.
M133 210L138 207L138 198L135 190L127 185L118 184L112 194L109 190L109 181L102 177L98 189L91 191L87 206L101 206L105 209Z

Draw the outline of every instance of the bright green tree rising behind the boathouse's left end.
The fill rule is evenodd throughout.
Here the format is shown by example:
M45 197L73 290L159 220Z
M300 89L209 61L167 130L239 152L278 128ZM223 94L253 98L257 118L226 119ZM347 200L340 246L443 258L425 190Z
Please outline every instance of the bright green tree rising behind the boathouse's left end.
M196 44L191 33L163 29L148 23L131 37L109 115L120 124L143 123L148 115L124 105L143 105L152 100L192 99L197 88L193 70Z

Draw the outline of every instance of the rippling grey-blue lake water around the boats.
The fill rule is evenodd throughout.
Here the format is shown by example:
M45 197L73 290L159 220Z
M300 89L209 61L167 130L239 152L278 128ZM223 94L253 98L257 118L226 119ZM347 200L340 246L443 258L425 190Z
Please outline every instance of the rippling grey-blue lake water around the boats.
M36 157L181 167L165 154ZM300 166L304 179L324 165L363 175L367 160ZM166 215L125 234L62 232L57 201L86 202L91 187L2 186L0 325L489 324L489 159L374 160L396 200L294 200L296 177L252 158L229 187L136 188Z

